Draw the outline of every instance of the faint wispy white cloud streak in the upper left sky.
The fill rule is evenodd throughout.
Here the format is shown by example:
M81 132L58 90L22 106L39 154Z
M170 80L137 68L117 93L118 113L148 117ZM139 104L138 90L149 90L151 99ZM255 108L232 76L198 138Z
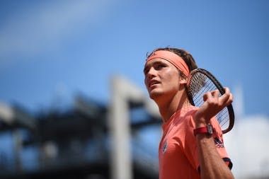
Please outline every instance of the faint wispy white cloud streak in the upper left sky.
M106 16L116 0L53 1L25 8L9 17L0 30L0 57L31 57L54 50L64 38Z

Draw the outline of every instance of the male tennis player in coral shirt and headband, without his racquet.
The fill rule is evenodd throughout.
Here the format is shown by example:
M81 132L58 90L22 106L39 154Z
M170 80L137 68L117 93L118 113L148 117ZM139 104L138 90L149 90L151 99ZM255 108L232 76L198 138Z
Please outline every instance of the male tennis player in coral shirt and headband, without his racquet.
M205 93L200 108L190 105L185 85L196 68L192 55L177 48L154 50L144 65L144 83L163 120L160 179L234 178L222 129L214 117L231 104L232 94L229 88L221 97L212 91Z

